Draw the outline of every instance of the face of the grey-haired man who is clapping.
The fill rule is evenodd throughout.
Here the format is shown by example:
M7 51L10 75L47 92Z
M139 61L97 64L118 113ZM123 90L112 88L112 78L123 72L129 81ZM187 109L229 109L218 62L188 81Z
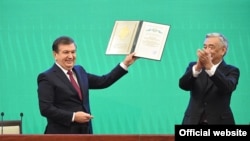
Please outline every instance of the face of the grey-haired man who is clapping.
M204 41L204 49L211 54L213 63L218 63L227 50L217 37L206 38Z

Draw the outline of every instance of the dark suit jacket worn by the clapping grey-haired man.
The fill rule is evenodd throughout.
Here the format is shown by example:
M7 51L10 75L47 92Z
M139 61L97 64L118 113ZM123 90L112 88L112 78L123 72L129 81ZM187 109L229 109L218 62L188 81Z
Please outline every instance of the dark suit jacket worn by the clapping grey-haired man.
M194 78L192 67L195 63L191 62L179 79L179 87L190 91L182 124L198 124L202 113L208 124L235 124L230 101L238 84L239 69L222 61L212 77L203 70Z

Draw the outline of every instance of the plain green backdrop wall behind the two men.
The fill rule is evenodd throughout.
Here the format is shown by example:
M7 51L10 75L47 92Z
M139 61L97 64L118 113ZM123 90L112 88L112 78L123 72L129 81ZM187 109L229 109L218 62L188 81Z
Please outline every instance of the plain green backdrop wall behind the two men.
M101 75L124 58L105 55L114 22L144 20L171 26L162 60L138 59L117 83L90 91L95 134L174 134L189 99L178 80L208 32L229 40L225 61L241 71L231 107L237 124L249 124L249 7L249 0L0 0L0 112L4 120L23 112L23 133L43 134L36 78L54 63L54 39L74 38L77 64Z

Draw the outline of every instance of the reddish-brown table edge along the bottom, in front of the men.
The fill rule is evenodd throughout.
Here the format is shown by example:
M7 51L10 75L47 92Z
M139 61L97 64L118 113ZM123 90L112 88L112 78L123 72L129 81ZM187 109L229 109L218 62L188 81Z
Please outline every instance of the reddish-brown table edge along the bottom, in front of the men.
M174 141L174 135L0 135L0 141Z

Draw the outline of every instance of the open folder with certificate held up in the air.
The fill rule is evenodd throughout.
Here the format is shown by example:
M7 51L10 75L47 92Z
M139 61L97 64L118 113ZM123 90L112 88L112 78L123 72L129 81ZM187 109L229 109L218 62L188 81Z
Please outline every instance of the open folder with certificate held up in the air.
M106 50L108 55L130 54L160 60L170 26L146 21L115 21Z

